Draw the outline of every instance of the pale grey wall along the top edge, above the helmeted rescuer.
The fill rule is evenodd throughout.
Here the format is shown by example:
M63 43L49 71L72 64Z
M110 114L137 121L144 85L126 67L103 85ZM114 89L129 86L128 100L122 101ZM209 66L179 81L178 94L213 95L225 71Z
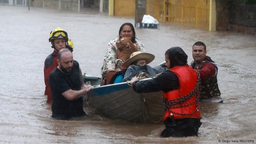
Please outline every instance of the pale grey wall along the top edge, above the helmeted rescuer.
M31 7L80 11L80 0L31 0Z

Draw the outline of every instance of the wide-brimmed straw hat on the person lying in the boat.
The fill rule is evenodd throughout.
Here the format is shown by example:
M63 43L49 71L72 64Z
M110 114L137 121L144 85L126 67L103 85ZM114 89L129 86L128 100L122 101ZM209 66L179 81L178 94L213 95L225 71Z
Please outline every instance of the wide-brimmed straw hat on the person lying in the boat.
M131 54L130 58L123 63L122 67L128 68L132 62L136 60L142 60L142 59L146 60L147 64L149 64L151 61L155 59L155 56L150 53L134 52Z

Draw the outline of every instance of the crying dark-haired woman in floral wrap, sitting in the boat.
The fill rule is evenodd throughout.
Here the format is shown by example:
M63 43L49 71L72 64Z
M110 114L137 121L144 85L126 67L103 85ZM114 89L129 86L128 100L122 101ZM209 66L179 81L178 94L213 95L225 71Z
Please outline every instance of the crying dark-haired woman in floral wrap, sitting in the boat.
M108 44L106 55L103 60L103 66L101 68L101 75L103 78L106 76L106 73L109 70L117 70L117 71L121 70L120 66L123 64L124 61L118 59L117 46L116 46L116 42L120 38L126 37L131 39L132 43L136 45L136 47L138 48L138 51L143 53L146 52L144 45L140 41L138 41L138 39L136 38L135 30L131 23L124 23L120 27L118 34L119 35L116 38L112 39Z

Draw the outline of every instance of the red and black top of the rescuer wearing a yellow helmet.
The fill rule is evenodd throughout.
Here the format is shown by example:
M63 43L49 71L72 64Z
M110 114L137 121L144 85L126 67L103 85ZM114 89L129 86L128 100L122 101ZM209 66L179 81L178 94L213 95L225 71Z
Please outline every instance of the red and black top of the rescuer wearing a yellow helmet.
M46 59L45 59L45 65L44 65L44 78L45 78L45 95L47 95L47 101L48 103L52 102L52 92L49 85L49 76L50 73L58 67L57 63L57 53L56 51L53 51Z

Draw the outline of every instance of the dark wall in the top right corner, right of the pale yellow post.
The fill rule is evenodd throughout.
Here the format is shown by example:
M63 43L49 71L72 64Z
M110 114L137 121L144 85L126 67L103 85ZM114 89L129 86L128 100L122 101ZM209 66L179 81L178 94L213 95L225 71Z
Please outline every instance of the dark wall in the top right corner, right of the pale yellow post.
M217 0L217 30L256 34L256 5L246 0Z

